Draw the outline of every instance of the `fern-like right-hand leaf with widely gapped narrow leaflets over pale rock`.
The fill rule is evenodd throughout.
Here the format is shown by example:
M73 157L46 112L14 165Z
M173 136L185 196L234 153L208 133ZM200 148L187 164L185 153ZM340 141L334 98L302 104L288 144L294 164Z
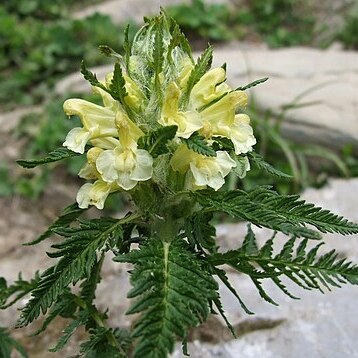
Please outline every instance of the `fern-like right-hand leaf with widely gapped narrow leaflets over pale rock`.
M262 287L262 280L271 279L276 286L291 298L293 296L281 281L286 277L298 286L311 290L324 292L323 288L331 290L331 287L340 287L342 284L358 285L358 266L339 258L332 250L322 256L318 256L318 250L323 245L320 243L307 250L308 239L304 239L295 249L295 241L288 240L277 254L273 250L274 238L268 240L260 249L256 239L249 228L248 234L238 250L226 253L215 253L209 257L209 262L214 266L227 264L241 273L250 276L260 295L268 302L276 302L266 293Z

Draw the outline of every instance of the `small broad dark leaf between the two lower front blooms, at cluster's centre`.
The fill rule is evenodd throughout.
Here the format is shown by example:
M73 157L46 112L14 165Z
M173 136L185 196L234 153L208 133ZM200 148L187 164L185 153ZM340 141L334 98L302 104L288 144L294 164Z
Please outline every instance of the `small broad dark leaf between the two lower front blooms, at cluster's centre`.
M177 126L161 127L138 140L138 148L147 150L153 158L168 152L167 143L175 137Z

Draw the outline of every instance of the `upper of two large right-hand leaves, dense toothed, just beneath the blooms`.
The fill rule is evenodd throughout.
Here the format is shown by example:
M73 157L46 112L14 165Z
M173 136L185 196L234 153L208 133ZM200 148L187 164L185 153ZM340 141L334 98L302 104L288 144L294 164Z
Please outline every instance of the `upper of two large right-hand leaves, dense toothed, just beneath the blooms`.
M251 191L233 190L226 193L203 191L192 193L207 210L223 211L233 217L248 220L297 237L318 238L307 224L319 231L342 235L358 233L358 225L342 216L301 200L299 195L279 195L266 187Z

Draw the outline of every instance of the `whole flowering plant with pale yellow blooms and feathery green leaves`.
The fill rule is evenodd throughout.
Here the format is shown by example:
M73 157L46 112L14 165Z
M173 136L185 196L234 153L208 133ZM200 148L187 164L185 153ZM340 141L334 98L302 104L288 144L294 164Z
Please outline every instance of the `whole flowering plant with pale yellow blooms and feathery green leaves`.
M79 176L88 181L76 203L30 243L61 236L48 253L58 261L26 284L19 280L7 286L2 281L3 307L13 295L11 303L31 293L19 327L41 312L47 316L40 331L58 315L70 317L52 351L62 349L75 329L84 326L89 338L80 356L166 357L176 339L186 352L189 329L212 313L220 314L235 336L220 301L219 281L252 313L230 284L225 267L248 275L271 303L264 280L288 295L282 277L319 290L358 283L356 265L337 259L335 252L318 257L320 245L307 249L309 240L320 239L318 231L353 234L358 225L269 187L223 190L229 173L242 178L252 164L287 176L254 152L256 140L245 114L245 90L266 79L232 89L225 65L210 69L212 47L194 61L186 38L164 12L147 19L132 42L126 32L123 55L105 46L101 50L115 59L113 72L103 81L84 64L81 72L103 105L68 99L64 111L79 116L82 127L68 133L65 148L42 159L18 161L32 168L86 155ZM122 193L132 202L122 218L79 219L90 206L103 209L109 195ZM211 223L218 212L283 232L289 239L274 254L274 238L259 248L249 226L241 246L223 252ZM133 304L127 314L137 316L129 332L108 327L107 313L94 305L105 255L132 265L133 288L127 297ZM79 282L76 290L70 288Z

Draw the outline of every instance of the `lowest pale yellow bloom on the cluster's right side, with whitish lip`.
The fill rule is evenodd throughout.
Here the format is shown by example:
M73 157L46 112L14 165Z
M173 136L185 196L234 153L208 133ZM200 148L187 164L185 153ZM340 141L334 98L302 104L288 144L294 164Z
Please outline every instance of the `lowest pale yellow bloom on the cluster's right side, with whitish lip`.
M193 178L196 186L209 186L218 190L225 183L224 178L231 169L236 167L236 163L225 151L217 151L216 157L206 157L182 144L175 151L171 166L181 173L187 172L189 178Z

